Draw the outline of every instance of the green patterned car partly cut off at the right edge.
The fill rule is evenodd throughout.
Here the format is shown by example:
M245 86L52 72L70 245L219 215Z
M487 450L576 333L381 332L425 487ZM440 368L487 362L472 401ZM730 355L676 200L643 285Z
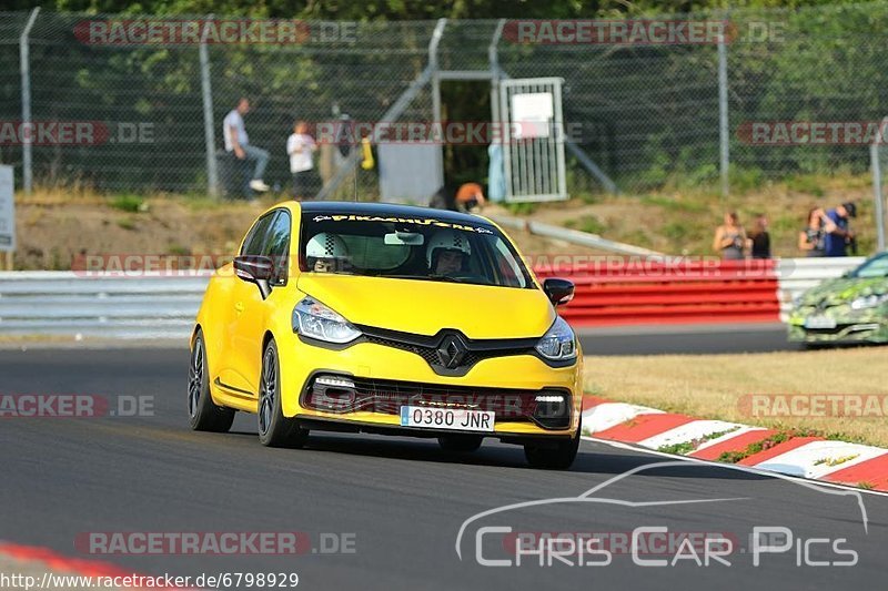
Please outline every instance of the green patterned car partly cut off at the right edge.
M888 252L801 294L789 315L789 340L888 343Z

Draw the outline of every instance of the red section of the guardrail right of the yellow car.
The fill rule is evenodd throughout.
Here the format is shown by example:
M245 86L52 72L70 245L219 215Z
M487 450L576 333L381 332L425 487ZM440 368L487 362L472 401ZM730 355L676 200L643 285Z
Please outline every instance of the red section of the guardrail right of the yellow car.
M660 262L638 257L536 267L576 285L562 316L575 326L778 322L773 261Z

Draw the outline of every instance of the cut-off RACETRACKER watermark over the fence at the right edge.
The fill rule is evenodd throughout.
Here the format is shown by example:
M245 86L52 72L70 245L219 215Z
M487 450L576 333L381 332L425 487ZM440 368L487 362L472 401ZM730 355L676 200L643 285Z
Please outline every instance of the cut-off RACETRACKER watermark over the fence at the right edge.
M886 142L888 121L746 121L737 139L748 145L870 145Z

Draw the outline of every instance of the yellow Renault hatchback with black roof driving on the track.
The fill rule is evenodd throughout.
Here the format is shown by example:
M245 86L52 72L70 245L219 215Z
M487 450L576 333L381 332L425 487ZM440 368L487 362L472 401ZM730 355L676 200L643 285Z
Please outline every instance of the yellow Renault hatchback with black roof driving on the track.
M226 431L258 415L266 446L311 430L484 437L567 468L579 444L582 353L542 283L491 221L376 203L263 213L210 279L191 338L189 417Z

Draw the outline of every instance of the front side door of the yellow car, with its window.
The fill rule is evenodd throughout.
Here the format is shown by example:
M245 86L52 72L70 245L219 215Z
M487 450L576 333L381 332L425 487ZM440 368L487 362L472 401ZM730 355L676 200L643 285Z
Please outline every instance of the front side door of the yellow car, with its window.
M274 262L275 274L269 282L272 287L266 299L262 298L259 287L245 284L252 289L243 292L242 297L235 302L234 314L234 342L232 348L235 353L235 371L239 379L248 386L253 394L259 393L259 377L262 370L262 338L269 326L269 316L282 305L284 291L282 287L287 281L287 253L292 234L292 220L290 212L278 210L265 231L265 238L259 252ZM246 253L253 254L253 253ZM242 282L243 283L243 282Z

